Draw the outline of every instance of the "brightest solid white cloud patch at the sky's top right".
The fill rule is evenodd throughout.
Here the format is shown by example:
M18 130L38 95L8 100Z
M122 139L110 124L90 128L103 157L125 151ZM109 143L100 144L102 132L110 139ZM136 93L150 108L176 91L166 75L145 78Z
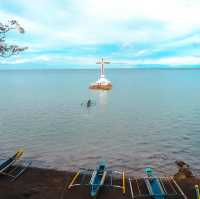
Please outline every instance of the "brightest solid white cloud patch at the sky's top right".
M200 1L191 0L85 0L80 11L90 20L114 22L151 19L185 27L199 25ZM178 28L178 27L177 27Z

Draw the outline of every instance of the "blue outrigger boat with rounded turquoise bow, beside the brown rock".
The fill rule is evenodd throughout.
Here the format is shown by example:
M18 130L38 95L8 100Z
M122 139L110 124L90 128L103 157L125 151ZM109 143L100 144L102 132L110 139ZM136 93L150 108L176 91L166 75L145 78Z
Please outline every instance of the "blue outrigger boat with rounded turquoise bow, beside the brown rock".
M151 168L146 168L145 174L146 177L144 178L129 178L130 191L133 199L187 199L187 196L183 193L173 177L157 178L153 175Z

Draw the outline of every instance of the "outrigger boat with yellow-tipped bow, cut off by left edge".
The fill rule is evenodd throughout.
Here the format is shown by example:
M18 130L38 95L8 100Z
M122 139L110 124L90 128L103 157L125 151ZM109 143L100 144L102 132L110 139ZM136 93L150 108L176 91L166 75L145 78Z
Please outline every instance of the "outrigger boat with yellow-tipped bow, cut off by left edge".
M16 153L6 160L0 160L0 174L11 178L11 181L16 180L24 171L31 165L31 161L24 162L19 166L19 160L24 151L19 149ZM17 163L17 164L16 164Z

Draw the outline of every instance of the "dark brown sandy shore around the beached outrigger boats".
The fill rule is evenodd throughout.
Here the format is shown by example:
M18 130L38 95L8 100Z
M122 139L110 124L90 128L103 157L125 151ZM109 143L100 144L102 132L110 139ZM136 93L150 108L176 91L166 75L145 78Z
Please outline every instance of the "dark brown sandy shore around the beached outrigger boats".
M28 168L16 181L10 182L6 177L0 177L0 199L89 199L88 187L73 187L66 189L74 173ZM128 180L126 176L126 194L123 195L120 189L103 188L98 199L128 199L131 198ZM190 173L184 174L183 170L175 175L175 179L183 189L188 199L195 199L194 185L200 180ZM115 179L117 184L121 183ZM182 197L177 197L182 198Z

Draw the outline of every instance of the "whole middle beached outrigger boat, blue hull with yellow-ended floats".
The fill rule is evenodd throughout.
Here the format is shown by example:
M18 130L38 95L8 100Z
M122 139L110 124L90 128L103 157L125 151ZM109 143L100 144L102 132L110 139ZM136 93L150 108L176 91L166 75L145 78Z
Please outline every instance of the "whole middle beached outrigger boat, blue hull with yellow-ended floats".
M122 185L114 185L113 184L113 174L117 173L122 175ZM91 176L90 181L84 182L86 175ZM105 183L106 177L110 177L109 183ZM80 183L75 183L79 178ZM125 174L124 172L112 171L107 169L107 164L105 161L100 162L100 164L96 167L96 169L84 169L81 168L75 176L72 178L70 184L68 185L68 189L71 189L74 186L89 186L90 187L90 196L97 197L100 189L104 186L106 187L115 187L120 188L122 193L125 194Z

